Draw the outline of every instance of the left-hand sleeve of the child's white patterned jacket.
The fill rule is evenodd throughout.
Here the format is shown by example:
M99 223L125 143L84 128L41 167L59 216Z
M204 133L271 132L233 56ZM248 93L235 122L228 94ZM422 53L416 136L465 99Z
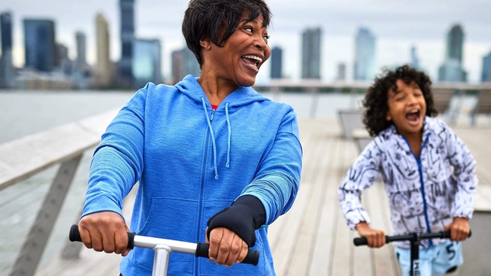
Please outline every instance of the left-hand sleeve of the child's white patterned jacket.
M361 221L370 223L370 216L361 205L361 192L370 188L379 175L382 151L373 139L356 158L338 187L339 206L350 229Z

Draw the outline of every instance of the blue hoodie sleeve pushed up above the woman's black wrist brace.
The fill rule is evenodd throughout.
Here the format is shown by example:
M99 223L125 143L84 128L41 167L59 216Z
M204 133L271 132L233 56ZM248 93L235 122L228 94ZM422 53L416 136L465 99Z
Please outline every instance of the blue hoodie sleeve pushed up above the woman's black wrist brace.
M286 213L300 186L302 148L297 116L293 109L283 117L269 152L258 166L254 180L242 195L257 197L266 211L266 224Z

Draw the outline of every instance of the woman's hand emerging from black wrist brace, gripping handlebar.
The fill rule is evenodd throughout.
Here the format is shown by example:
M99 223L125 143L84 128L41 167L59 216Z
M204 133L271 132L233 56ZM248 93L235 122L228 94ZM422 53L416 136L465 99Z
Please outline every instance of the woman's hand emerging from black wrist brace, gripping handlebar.
M208 228L206 231L208 232ZM225 227L213 228L210 232L210 239L206 236L206 243L210 244L210 262L217 261L218 265L231 267L235 263L240 263L246 258L248 247L246 242L232 230Z

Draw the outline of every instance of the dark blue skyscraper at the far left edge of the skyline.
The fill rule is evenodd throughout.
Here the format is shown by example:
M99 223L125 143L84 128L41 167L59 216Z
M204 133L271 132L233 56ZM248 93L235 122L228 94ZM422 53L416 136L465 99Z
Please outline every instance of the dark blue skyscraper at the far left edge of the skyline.
M9 12L0 14L0 87L13 87L15 70L12 64L12 15Z

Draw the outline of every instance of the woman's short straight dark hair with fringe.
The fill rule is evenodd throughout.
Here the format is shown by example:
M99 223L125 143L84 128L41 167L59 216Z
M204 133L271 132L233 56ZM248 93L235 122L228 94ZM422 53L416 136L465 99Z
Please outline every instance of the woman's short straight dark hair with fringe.
M267 28L271 21L271 12L264 0L190 0L184 13L183 34L186 44L196 56L199 66L203 64L201 59L202 38L210 38L217 45L227 40L240 24L242 17L248 18L245 22L253 21L263 16L263 27ZM222 37L220 30L224 28Z

